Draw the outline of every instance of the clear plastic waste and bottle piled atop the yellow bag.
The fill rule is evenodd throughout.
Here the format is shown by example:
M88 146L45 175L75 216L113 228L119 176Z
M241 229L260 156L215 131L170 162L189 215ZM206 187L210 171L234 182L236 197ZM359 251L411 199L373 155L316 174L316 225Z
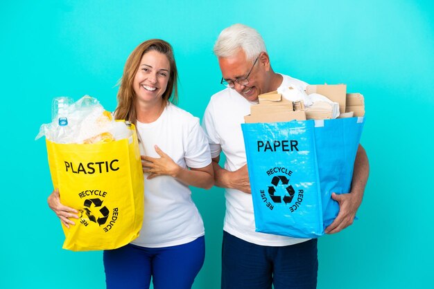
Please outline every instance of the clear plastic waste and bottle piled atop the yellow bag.
M129 138L125 122L116 122L96 98L85 95L67 107L67 126L58 123L55 115L49 124L42 124L35 140L45 136L56 143L92 144ZM128 124L128 123L127 123Z

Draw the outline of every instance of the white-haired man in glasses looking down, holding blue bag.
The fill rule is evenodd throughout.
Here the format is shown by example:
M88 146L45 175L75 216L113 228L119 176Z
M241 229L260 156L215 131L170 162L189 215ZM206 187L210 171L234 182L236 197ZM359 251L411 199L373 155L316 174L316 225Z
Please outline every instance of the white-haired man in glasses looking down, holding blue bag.
M318 254L316 239L255 232L252 196L241 123L250 114L258 95L306 83L275 73L259 33L235 24L223 30L214 46L227 86L211 97L203 118L213 158L216 185L225 188L226 214L223 227L222 288L267 289L316 288ZM225 168L218 165L220 152ZM327 234L351 225L361 205L369 165L359 146L349 194L333 194L340 212Z

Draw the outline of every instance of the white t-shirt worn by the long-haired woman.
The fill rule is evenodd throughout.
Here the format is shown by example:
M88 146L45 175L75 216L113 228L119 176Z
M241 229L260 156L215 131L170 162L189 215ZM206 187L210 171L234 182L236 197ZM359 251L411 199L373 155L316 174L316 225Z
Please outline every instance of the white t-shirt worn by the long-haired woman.
M142 156L159 158L157 145L181 167L201 168L211 163L209 145L199 119L168 104L152 123L137 122ZM145 178L144 221L134 245L161 248L189 243L205 234L202 217L187 185L171 176Z

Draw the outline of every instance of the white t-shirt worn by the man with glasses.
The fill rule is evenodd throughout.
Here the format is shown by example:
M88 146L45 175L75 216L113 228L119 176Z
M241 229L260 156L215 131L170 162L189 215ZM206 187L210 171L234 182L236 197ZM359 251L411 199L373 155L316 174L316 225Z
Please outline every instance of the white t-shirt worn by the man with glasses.
M288 86L306 87L301 80L282 75L279 88ZM236 171L247 163L243 131L241 124L244 116L250 114L250 106L254 104L246 100L232 88L226 88L213 96L205 110L202 127L207 133L212 158L226 156L225 169ZM226 214L223 230L244 241L257 245L284 246L301 243L309 239L295 239L287 236L254 232L254 214L252 195L237 189L225 189Z

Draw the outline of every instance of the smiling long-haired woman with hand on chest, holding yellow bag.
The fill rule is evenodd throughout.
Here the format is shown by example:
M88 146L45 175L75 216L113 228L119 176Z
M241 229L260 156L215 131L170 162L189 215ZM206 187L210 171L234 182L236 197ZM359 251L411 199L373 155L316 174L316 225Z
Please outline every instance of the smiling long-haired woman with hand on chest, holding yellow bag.
M191 288L205 259L205 230L189 185L214 185L211 155L198 118L169 100L177 97L171 45L144 41L125 63L116 119L136 124L145 179L144 223L132 243L104 252L107 288ZM69 227L77 211L49 206Z

